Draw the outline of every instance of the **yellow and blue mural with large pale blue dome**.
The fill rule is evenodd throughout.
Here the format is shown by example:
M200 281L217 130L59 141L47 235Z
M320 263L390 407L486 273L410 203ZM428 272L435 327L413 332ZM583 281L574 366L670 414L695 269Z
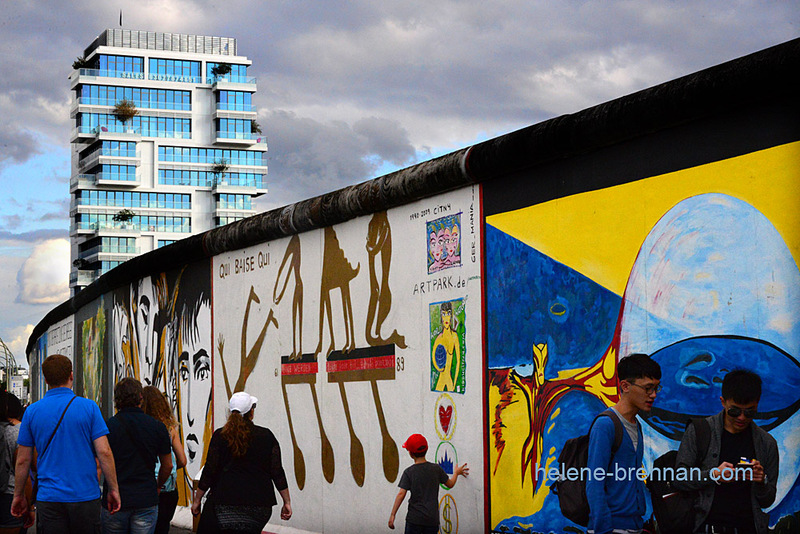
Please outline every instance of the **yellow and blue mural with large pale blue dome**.
M728 370L751 369L772 384L755 419L780 449L770 523L800 510L797 176L781 163L797 157L787 145L487 217L492 528L575 528L542 473L616 401L632 352L663 372L646 468L687 418L719 411Z

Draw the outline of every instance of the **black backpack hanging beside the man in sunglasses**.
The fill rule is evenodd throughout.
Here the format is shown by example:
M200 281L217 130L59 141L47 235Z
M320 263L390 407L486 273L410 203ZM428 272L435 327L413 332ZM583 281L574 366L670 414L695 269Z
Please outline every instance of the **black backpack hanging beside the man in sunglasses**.
M708 454L708 445L711 442L711 427L705 419L692 419L686 425L694 425L697 437L697 463L702 464ZM694 503L697 491L678 491L673 486L672 477L664 480L665 468L676 467L678 451L668 451L653 461L653 472L647 478L647 489L650 490L653 502L653 515L661 534L686 534L694 531ZM655 473L662 473L654 477ZM656 480L658 478L658 480Z

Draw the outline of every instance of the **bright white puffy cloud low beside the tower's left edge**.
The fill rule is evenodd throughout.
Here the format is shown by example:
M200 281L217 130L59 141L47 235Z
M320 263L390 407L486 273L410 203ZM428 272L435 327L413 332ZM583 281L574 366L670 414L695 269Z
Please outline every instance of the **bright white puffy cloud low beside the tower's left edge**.
M17 272L23 304L60 304L69 298L69 240L51 239L33 248Z

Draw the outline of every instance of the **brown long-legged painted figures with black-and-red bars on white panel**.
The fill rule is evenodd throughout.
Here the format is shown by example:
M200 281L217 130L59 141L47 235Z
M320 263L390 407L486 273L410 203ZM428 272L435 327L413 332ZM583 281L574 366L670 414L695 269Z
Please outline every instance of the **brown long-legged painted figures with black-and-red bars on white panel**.
M248 378L262 356L262 349L270 327L274 330L272 334L274 336L279 336L281 332L290 333L291 351L287 355L280 356L279 368L281 395L286 410L295 482L298 488L305 487L307 465L303 447L295 431L289 395L291 388L287 386L297 384L308 386L316 421L315 426L319 433L321 472L328 483L333 483L335 480L336 456L325 429L318 395L319 362L323 360L325 361L323 376L328 383L336 384L344 410L344 423L349 436L348 465L353 480L358 486L363 486L366 460L362 439L359 438L353 422L347 384L368 382L381 433L384 476L387 480L394 481L399 469L398 447L389 432L378 387L379 380L394 380L396 349L406 348L404 336L399 334L397 329L392 329L391 333L388 333L389 328L385 327L392 308L392 293L388 283L392 256L391 227L386 213L382 212L373 215L367 228L366 246L363 248L363 252L369 267L369 303L366 308L364 328L360 330L364 332L364 341L362 342L357 341L359 329L356 328L353 297L350 290L351 283L361 273L361 262L353 262L347 257L339 243L336 229L328 227L320 232L322 233L321 276L314 280L314 285L318 283L320 288L318 337L315 350L303 353L302 349L304 276L301 273L301 267L303 265L303 247L300 236L295 235L287 239L286 248L281 255L280 266L274 273L274 282L267 284L267 287L272 289L272 303L265 302L262 305L259 297L259 293L262 291L259 286L264 286L263 278L258 284L250 285L244 316L239 326L240 343L238 348L241 358L238 365L225 357L225 334L220 332L218 336L217 350L222 364L221 371L226 385L226 393L230 395L247 387ZM261 271L260 274L267 275L267 280L271 280L273 274L270 255L271 252L260 251L254 261L258 265L257 269ZM227 262L223 263L219 267L220 272L228 272L226 271L227 265L229 265ZM237 263L237 260L234 260L234 274L247 272L246 265L247 260L244 263ZM227 275L222 278L227 278ZM292 297L291 303L283 304L287 292ZM257 305L261 309L260 317L252 315L253 305ZM279 326L277 315L283 313L282 310L288 314L290 322L284 322ZM247 333L256 324L262 326L255 340L250 344ZM341 332L337 328L338 326L343 326L343 336L337 336L337 332ZM286 336L281 335L280 337L285 339ZM237 368L238 371L234 371ZM237 373L238 378L231 386L229 377L234 372Z

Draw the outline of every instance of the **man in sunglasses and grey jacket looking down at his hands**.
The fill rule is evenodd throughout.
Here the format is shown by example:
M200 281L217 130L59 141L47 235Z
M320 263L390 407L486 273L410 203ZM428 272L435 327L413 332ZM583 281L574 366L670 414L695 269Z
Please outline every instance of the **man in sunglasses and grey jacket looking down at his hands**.
M753 423L760 399L761 378L757 374L731 371L722 380L722 411L706 418L711 429L708 451L697 450L694 425L689 425L683 435L676 467L689 469L699 463L701 476L699 480L676 480L675 487L698 490L695 532L768 532L769 514L762 508L775 501L778 443Z

